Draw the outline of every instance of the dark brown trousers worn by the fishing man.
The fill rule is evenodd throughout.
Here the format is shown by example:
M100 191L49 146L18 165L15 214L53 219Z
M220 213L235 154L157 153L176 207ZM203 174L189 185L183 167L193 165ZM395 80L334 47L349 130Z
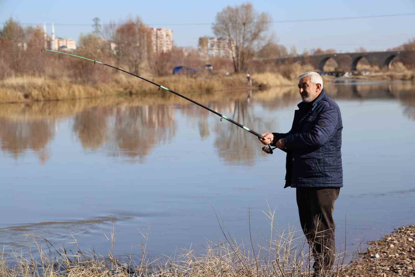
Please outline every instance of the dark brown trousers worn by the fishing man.
M314 257L316 273L332 270L336 260L334 245L334 201L340 188L297 188L301 228Z

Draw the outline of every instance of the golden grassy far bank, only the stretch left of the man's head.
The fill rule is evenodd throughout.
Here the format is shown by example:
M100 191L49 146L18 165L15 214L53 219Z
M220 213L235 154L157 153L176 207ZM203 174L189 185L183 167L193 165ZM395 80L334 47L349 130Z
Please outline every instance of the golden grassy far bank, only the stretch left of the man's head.
M292 80L273 73L255 74L253 87L247 86L244 74L226 77L218 75L168 76L149 79L187 96L293 85ZM116 74L108 82L95 84L78 84L67 79L29 76L11 77L0 81L0 103L96 98L110 95L146 95L156 92L157 87L153 84L127 74Z

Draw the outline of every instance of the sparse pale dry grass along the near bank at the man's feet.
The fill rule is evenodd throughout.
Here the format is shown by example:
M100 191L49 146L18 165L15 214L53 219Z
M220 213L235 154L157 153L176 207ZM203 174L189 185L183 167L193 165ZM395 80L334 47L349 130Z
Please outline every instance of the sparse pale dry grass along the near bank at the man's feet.
M160 256L150 260L147 255L149 232L142 235L142 254L137 260L131 255L129 260L121 262L113 255L115 231L105 235L111 245L107 255L95 252L83 252L73 237L70 242L78 251L68 253L62 246L56 249L49 240L36 235L27 235L37 248L37 255L31 252L14 252L12 257L0 255L0 276L2 277L300 277L311 276L310 248L300 231L277 230L274 228L275 210L269 208L264 212L271 227L269 238L255 245L251 238L248 243L237 242L229 235L224 225L217 221L222 230L222 242L208 242L202 255L195 255L194 250L180 249L172 256ZM264 243L264 245L261 245ZM45 247L46 246L46 247ZM48 249L47 251L45 249ZM356 270L355 263L344 262L344 253L337 256L336 269L326 272L321 277L333 273L335 277L375 276L376 272ZM355 253L357 254L357 252ZM12 262L10 262L10 258ZM353 259L356 261L356 259ZM8 262L9 261L9 262Z

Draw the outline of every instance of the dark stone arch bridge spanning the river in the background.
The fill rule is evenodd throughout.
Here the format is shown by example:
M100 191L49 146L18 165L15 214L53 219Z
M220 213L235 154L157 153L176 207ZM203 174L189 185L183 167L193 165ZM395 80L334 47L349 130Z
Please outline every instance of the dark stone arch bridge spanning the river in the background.
M313 67L324 71L324 65L330 58L337 62L337 67L343 71L356 70L357 63L360 59L366 58L371 66L379 68L390 67L393 58L402 58L408 55L415 55L415 51L385 51L385 52L358 52L358 53L325 53L310 56L297 56L279 58L277 63L300 62L302 64L311 64Z

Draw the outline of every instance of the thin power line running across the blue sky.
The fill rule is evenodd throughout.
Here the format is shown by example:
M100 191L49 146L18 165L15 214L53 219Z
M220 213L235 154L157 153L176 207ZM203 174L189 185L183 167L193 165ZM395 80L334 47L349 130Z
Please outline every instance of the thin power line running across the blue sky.
M353 17L327 17L327 18L316 18L316 19L293 19L293 20L273 20L266 21L268 23L290 23L290 22L313 22L313 21L330 21L330 20L352 20L352 19L365 19L365 18L381 18L381 17L398 17L398 16L411 16L415 15L415 12L412 13L398 13L393 15L367 15L367 16L353 16ZM5 24L6 22L1 22ZM43 23L19 23L21 25L42 25ZM52 23L46 23L46 25L51 25ZM187 26L187 25L212 25L213 23L152 23L146 25L158 25L158 26ZM109 25L102 24L102 25ZM55 23L55 26L90 26L90 24L75 24L75 23Z

